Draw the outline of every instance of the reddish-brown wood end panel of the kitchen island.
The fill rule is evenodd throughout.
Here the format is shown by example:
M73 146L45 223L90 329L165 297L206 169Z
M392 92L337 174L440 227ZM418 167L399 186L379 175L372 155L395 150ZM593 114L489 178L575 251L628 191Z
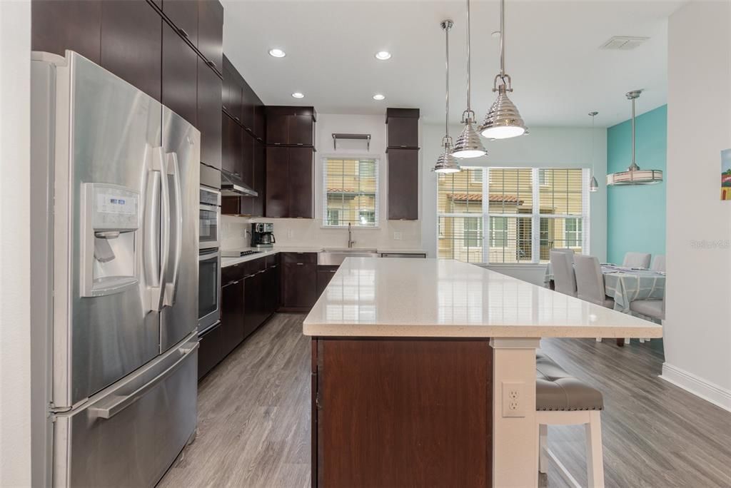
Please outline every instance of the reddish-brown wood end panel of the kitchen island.
M487 339L317 344L314 486L491 486Z

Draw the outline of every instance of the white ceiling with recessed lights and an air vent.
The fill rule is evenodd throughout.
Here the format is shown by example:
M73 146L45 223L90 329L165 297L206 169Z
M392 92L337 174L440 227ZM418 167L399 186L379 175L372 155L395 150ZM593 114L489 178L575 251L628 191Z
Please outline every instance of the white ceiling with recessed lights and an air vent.
M638 113L667 98L667 17L683 0L509 0L506 68L529 126L597 126L629 118L626 91L644 88ZM450 120L466 107L466 2L416 0L224 0L224 52L265 104L320 113L382 114L417 107L444 120L444 32L450 33ZM498 69L499 3L473 0L472 109L482 120ZM650 39L635 50L600 50L615 35ZM689 35L692 35L689 33ZM272 47L285 58L268 55ZM393 58L377 61L389 50ZM304 99L293 99L300 91ZM371 97L385 94L376 102Z

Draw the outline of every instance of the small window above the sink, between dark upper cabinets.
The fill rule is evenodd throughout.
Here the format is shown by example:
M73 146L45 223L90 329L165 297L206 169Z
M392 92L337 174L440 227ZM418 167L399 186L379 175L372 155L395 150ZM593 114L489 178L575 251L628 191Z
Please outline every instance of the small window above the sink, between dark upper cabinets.
M378 159L322 159L322 188L324 226L378 226Z

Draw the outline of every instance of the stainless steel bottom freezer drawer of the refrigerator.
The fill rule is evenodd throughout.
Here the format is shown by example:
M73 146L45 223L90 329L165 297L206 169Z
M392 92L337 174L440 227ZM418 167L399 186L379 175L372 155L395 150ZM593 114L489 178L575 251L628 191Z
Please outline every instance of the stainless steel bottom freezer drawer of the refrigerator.
M153 487L196 427L197 334L53 422L56 487Z

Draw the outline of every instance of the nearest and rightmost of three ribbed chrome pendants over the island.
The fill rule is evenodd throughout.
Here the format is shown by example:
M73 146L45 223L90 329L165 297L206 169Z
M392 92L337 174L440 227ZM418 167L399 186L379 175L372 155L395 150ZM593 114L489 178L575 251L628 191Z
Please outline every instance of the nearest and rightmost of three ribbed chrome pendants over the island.
M507 96L509 91L512 92L512 80L505 73L505 0L500 0L500 72L493 80L493 91L498 92L498 98L482 121L482 137L509 139L525 134L526 123L520 117L518 107Z

